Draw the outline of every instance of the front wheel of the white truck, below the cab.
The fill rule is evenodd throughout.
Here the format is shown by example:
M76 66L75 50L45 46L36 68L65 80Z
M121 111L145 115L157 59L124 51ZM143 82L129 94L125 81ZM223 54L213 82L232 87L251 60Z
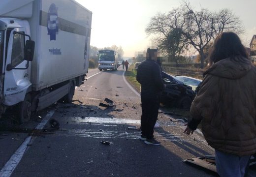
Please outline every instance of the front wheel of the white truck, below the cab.
M26 94L24 101L18 104L18 122L23 124L31 119L32 115L32 98L30 94Z

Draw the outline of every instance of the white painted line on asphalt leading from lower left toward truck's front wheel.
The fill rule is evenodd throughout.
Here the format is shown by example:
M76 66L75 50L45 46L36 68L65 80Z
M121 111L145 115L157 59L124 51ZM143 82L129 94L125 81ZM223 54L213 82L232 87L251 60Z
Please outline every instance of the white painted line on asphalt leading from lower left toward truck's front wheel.
M48 120L52 117L54 111L50 111L45 118L36 126L35 129L41 130L43 129L44 125L48 122ZM10 177L15 168L18 166L19 162L21 161L25 151L29 148L28 145L31 145L33 140L36 137L29 136L26 140L22 143L22 145L15 151L15 153L11 156L11 158L6 162L3 168L0 171L0 177Z

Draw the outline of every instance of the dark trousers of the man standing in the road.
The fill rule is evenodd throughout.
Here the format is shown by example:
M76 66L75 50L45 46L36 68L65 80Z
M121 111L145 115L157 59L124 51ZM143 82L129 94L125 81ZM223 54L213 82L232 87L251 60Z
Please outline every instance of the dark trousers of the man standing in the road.
M141 94L141 134L147 139L154 137L154 126L158 118L160 102L158 95L143 95Z

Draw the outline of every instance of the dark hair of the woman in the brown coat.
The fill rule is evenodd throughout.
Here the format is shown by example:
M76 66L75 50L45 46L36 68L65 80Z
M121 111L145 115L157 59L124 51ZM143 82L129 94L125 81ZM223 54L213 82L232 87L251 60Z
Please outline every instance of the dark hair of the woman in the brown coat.
M239 57L249 60L247 50L238 35L234 32L222 32L216 37L208 59L209 65L212 65L222 59L239 59Z

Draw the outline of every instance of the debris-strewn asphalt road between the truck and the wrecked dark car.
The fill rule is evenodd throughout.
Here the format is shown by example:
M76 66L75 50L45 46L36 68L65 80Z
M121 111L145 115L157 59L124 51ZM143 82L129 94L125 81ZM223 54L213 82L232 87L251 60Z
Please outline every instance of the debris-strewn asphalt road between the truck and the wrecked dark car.
M215 177L182 162L214 154L200 132L183 133L182 118L159 114L155 138L161 146L145 145L138 139L140 131L128 128L140 126L141 107L139 94L123 74L121 67L118 71L92 69L87 81L76 88L72 104L57 103L22 129L0 132L0 176ZM113 100L114 106L99 106L106 104L105 98ZM46 123L50 118L59 121L59 129ZM35 127L38 119L46 123L43 131L33 132L28 140L30 128L26 127Z

